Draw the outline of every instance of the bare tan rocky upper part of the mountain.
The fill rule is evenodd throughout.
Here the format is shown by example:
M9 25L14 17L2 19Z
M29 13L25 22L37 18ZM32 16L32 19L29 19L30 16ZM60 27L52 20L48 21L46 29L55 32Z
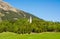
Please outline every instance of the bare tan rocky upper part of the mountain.
M8 4L7 2L4 2L2 0L0 0L0 8L5 11L11 10L11 11L17 12L17 10L15 8L13 8L10 4Z

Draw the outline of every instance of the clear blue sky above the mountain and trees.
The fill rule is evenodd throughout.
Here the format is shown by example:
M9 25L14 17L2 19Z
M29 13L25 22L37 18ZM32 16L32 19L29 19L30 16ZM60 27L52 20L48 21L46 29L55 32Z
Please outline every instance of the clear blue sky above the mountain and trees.
M48 21L60 21L60 0L4 0L13 7Z

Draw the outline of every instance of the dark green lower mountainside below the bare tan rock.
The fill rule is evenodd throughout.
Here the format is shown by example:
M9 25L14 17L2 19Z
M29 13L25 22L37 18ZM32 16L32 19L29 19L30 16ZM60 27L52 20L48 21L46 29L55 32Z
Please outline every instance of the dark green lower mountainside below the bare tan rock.
M22 10L18 10L17 12L14 12L14 11L11 11L11 10L8 10L8 11L5 11L3 9L0 8L0 17L2 18L2 20L15 20L14 18L17 18L17 19L21 19L21 18L30 18L30 16L32 18L38 18L30 13L27 13L27 12L24 12ZM4 15L4 16L2 16ZM38 18L40 19L40 18Z

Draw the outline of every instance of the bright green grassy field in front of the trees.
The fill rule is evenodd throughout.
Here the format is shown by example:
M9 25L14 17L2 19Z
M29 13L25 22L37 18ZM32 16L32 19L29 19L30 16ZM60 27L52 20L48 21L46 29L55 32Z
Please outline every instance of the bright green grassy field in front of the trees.
M60 39L60 33L15 34L11 32L3 32L0 33L0 39Z

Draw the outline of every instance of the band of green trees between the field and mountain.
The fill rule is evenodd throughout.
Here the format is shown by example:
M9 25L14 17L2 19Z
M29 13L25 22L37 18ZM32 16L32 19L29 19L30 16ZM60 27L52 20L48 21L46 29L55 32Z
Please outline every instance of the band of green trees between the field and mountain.
M44 21L34 18L32 23L28 19L18 19L17 21L3 20L0 22L0 33L14 32L18 34L60 32L60 22Z

